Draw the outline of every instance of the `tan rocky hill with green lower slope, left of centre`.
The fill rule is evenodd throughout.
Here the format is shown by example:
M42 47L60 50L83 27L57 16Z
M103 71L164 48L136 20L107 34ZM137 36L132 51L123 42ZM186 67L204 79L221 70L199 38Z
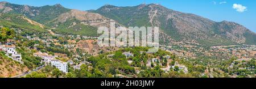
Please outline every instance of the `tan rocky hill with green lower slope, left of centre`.
M110 22L114 22L114 20L100 14L70 10L47 22L46 26L54 28L57 33L97 36L97 28L110 27Z

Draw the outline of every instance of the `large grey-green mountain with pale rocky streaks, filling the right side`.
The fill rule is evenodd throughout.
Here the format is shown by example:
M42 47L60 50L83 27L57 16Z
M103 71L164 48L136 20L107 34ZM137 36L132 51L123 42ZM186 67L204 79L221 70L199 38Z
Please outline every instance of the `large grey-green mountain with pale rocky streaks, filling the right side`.
M132 7L102 6L92 12L129 26L159 26L172 39L192 39L206 45L256 44L256 34L233 22L214 22L158 4Z

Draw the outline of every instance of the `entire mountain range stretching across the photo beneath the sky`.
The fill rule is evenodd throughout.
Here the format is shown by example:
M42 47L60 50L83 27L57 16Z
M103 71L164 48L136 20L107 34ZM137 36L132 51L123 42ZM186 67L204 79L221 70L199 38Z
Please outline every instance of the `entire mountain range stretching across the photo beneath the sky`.
M61 34L97 36L97 27L109 27L110 22L115 22L126 27L158 26L164 40L195 40L202 45L256 45L256 33L238 23L214 22L158 4L105 5L97 10L80 11L59 4L34 7L0 2L0 13L0 26L30 31L52 29Z

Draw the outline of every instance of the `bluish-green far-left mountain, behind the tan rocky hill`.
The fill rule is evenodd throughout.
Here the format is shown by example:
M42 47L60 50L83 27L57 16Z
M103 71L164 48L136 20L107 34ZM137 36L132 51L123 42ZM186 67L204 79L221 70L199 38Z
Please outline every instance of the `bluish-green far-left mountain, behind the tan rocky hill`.
M49 22L49 20L52 20L60 14L68 11L70 11L70 9L65 9L59 4L53 6L47 5L42 7L34 7L28 5L15 5L4 1L0 2L0 12L22 14L39 23Z

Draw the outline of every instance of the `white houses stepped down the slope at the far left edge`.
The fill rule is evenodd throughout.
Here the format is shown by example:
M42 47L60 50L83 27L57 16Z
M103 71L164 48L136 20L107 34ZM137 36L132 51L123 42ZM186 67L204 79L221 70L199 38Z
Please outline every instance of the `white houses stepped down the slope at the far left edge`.
M6 56L12 58L15 61L23 63L22 55L16 52L15 45L0 45L0 50L3 50L6 53Z

